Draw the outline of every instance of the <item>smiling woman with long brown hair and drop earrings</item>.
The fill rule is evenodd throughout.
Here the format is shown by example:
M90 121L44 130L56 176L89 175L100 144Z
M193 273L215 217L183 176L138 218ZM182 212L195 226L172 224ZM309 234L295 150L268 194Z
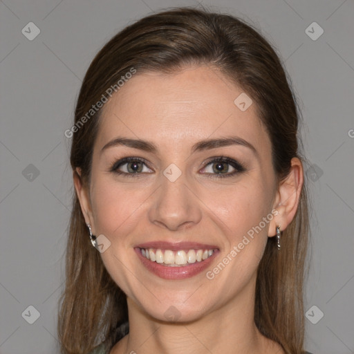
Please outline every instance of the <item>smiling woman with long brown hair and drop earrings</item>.
M230 15L167 10L100 50L66 131L62 353L304 353L298 115Z

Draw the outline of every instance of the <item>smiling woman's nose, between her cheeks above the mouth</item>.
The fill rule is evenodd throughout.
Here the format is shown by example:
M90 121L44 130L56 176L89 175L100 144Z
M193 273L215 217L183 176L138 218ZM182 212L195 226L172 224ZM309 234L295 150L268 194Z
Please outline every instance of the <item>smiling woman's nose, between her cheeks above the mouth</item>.
M200 201L186 182L183 174L174 182L161 176L160 188L149 208L151 223L178 231L201 221Z

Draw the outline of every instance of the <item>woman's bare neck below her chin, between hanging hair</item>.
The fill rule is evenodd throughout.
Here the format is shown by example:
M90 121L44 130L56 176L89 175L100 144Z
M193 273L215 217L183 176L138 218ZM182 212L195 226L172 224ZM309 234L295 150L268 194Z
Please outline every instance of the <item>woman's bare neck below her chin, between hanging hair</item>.
M128 299L129 335L111 353L282 354L279 344L261 335L254 324L254 297L250 293L254 291L245 289L237 299L207 315L177 323L152 319Z

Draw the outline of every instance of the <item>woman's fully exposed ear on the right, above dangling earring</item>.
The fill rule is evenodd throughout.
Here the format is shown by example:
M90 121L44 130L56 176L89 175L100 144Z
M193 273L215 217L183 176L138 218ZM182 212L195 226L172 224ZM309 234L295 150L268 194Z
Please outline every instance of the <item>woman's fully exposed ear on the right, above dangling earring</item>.
M283 231L291 223L299 205L303 184L304 170L301 160L299 158L292 158L290 172L286 179L279 184L275 196L273 209L277 210L278 214L274 213L275 216L270 221L268 236L275 236L277 225L280 225L281 231Z

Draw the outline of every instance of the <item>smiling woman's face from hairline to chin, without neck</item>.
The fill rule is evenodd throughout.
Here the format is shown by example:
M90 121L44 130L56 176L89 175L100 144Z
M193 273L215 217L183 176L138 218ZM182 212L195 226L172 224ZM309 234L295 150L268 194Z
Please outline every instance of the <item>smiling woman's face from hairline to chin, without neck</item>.
M80 202L111 242L109 274L156 319L198 319L254 295L277 185L268 134L254 102L234 103L241 93L200 66L137 73L104 106Z

